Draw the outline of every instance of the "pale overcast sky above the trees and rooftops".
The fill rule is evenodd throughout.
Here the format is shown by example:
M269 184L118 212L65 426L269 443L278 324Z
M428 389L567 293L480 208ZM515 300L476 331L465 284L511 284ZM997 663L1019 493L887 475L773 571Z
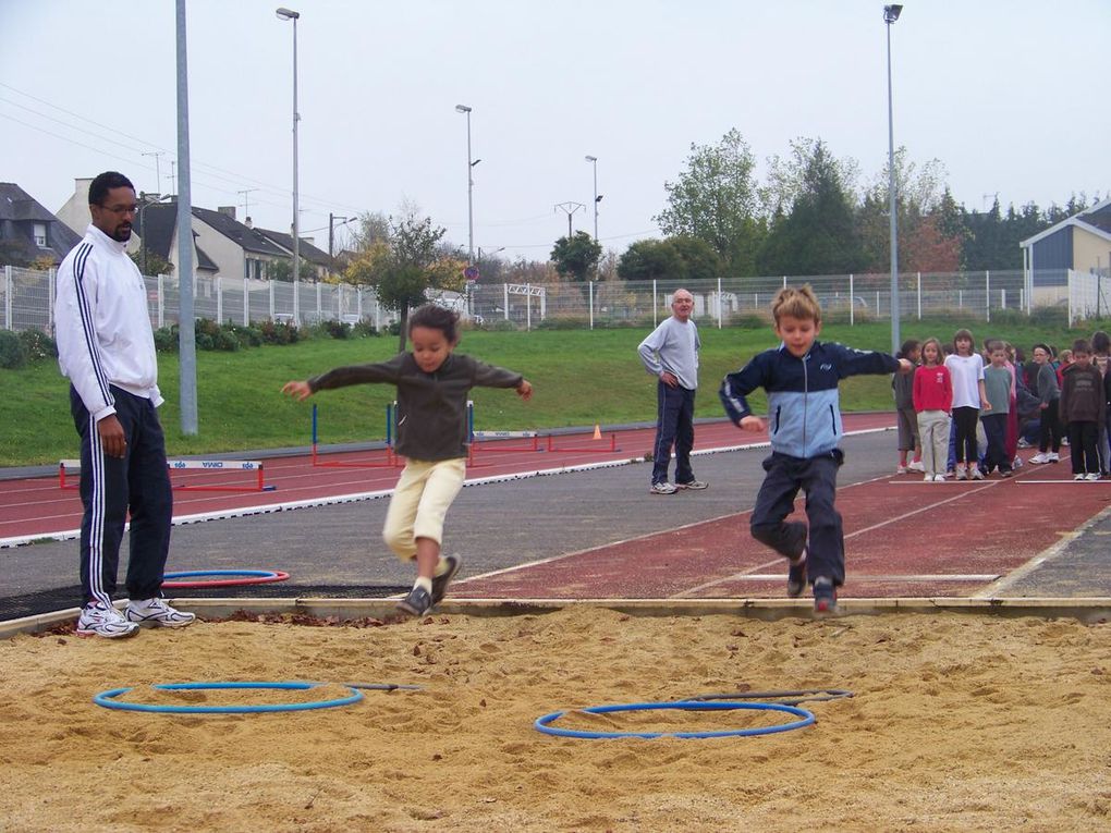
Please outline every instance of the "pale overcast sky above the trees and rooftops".
M881 175L878 0L288 0L301 13L301 230L406 203L466 250L547 260L575 230L658 237L691 143L737 128L760 164L799 137ZM187 0L193 203L292 222L293 27L276 0ZM0 0L0 181L51 211L116 169L170 192L173 0ZM939 159L958 202L1111 191L1109 0L908 0L892 27L895 144ZM160 157L152 155L161 152ZM160 169L161 181L156 171ZM241 193L247 191L248 193Z

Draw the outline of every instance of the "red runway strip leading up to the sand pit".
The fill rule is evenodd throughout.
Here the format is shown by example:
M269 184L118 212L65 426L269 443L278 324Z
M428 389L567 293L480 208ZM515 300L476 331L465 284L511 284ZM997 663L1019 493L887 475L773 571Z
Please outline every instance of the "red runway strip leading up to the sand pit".
M837 501L847 579L839 594L990 595L995 580L1071 535L1109 500L1111 484L1072 483L1067 462L1024 465L1009 480L924 483L921 474L907 474L843 486ZM488 599L783 598L784 560L751 538L749 514L464 579L454 592ZM792 519L805 520L801 500Z

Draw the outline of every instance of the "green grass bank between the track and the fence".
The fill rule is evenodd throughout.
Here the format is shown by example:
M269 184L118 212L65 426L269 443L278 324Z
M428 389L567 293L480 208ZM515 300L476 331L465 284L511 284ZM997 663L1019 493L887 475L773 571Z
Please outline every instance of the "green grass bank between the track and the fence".
M951 338L962 322L904 321L903 339ZM972 324L979 341L998 335L1029 347L1037 341L1071 344L1088 331L1068 332L1020 320L1007 325ZM512 391L473 391L478 430L522 431L563 426L602 426L650 422L655 413L655 384L640 364L637 345L648 330L544 330L533 332L468 331L459 351L523 373L536 388L531 402ZM700 325L702 354L698 416L723 415L717 388L721 378L739 369L753 353L777 343L770 327L718 330ZM887 322L827 324L823 341L889 350ZM304 379L343 364L382 361L397 350L397 339L384 337L337 341L320 339L289 347L262 347L236 353L199 352L198 403L200 432L183 436L178 408L178 357L159 354L159 379L167 399L161 409L171 455L202 454L294 445L311 441L311 405L320 411L320 442L381 440L386 435L386 405L394 399L389 385L361 385L324 391L306 402L280 393L291 379ZM77 456L78 442L69 414L68 382L56 362L0 370L0 466L56 463ZM842 385L848 411L891 408L888 377L857 377ZM753 405L763 407L762 394Z

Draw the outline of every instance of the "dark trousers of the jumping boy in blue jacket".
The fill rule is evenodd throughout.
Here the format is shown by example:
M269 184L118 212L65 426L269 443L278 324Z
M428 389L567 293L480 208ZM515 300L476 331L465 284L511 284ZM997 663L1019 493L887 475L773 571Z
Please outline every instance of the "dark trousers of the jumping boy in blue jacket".
M752 538L780 555L795 559L807 548L810 581L824 575L834 586L844 583L844 531L833 506L837 470L843 462L840 449L813 458L772 453L763 461L768 476L757 494L750 522ZM809 529L801 521L783 522L794 510L800 489L807 495Z

